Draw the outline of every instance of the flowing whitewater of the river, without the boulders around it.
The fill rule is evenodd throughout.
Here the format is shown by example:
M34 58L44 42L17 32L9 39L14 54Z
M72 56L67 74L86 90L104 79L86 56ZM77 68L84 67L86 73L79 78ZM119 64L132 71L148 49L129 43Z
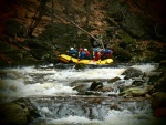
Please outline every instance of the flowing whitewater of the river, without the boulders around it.
M41 115L32 125L158 125L159 119L153 116L148 101L121 102L116 96L108 96L120 93L114 84L113 91L101 95L77 95L73 90L77 84L89 87L92 83L89 80L102 79L103 84L108 85L106 80L116 76L123 84L131 84L131 80L123 80L121 75L129 66L143 72L156 69L156 64L87 66L84 70L64 64L9 67L2 69L7 75L0 77L0 94L30 98Z

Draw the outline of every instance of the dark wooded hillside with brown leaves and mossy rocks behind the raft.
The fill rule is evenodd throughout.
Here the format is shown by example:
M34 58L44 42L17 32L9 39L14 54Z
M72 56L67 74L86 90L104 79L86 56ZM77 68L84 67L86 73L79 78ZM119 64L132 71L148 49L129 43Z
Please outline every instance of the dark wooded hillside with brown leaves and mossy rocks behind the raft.
M1 0L0 65L58 62L70 46L91 50L91 35L112 48L115 62L163 61L165 2Z

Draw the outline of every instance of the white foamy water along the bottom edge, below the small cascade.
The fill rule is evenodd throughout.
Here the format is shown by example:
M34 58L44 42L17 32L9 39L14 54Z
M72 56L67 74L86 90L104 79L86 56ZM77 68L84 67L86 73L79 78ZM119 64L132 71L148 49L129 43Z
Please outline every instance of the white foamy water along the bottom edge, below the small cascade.
M82 116L68 116L59 119L48 119L48 125L157 125L149 112L132 113L128 110L111 110L103 121L90 119ZM162 124L163 125L163 124Z

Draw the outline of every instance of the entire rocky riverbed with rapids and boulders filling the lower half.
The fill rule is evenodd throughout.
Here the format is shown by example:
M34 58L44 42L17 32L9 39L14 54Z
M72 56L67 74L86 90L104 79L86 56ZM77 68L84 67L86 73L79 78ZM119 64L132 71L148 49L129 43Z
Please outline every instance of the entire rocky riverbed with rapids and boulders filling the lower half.
M137 125L164 125L162 64L120 65L80 70L64 64L3 69L0 122L120 125L125 116L126 124L137 121Z

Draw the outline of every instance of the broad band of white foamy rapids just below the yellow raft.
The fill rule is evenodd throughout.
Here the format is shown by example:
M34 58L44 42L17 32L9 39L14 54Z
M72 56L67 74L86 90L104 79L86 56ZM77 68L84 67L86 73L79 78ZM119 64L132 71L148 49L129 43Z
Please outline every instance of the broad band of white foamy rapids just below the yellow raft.
M35 69L34 66L6 69L9 77L1 79L1 93L11 96L75 94L69 83L76 80L112 79L121 76L125 69L103 67L86 69ZM11 77L12 76L12 77Z

